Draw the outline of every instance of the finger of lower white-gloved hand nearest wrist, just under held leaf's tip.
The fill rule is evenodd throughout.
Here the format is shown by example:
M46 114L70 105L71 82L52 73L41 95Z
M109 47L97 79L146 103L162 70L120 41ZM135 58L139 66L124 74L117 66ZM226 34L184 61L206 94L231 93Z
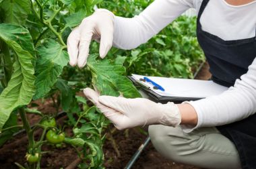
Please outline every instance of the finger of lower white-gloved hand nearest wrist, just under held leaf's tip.
M119 111L123 115L127 115L127 111L129 111L129 100L125 99L124 97L111 97L111 96L100 96L98 101L116 111Z

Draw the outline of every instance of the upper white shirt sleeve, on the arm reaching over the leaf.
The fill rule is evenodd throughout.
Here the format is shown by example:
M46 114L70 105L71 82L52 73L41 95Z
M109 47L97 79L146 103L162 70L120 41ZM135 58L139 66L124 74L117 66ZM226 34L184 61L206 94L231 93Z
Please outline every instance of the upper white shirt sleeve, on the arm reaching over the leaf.
M113 46L125 50L137 48L181 13L193 7L193 1L195 0L155 0L133 18L115 16Z

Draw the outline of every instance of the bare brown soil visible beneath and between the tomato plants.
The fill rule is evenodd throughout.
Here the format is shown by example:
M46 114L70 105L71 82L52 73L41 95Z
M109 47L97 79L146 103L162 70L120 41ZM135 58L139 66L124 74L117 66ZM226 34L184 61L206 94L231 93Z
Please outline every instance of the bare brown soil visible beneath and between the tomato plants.
M209 66L205 64L199 74L197 74L197 79L207 80L210 78L210 73L208 72ZM57 110L53 107L51 101L36 101L32 105L36 105L38 110L42 113L55 113ZM36 123L39 119L37 115L28 115L30 123ZM62 117L57 121L57 123L63 123L65 117ZM104 166L109 169L124 168L137 151L139 146L145 141L147 135L145 134L147 129L128 129L126 131L115 130L113 132L113 138L115 139L116 148L113 147L113 142L110 139L106 139L104 144ZM38 131L38 135L41 131ZM2 148L0 148L0 168L18 168L14 163L24 164L26 162L26 145L28 144L26 135L20 134L16 135L15 138L9 140ZM70 164L76 164L79 162L77 160L77 155L75 150L69 146L63 145L61 148L56 148L51 145L46 145L42 148L46 154L43 154L41 161L41 168L67 168ZM51 150L51 152L50 152ZM49 151L49 152L48 152ZM119 152L117 152L119 151ZM119 155L118 155L119 154ZM132 168L174 168L174 169L198 169L194 166L187 166L185 164L177 164L162 157L151 143L143 150L141 156L137 159Z

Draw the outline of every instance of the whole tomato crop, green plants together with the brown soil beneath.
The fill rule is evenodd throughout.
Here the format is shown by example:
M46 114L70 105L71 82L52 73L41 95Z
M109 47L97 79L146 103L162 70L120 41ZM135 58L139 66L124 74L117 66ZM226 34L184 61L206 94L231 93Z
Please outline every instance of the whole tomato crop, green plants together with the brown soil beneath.
M67 37L96 7L133 17L151 2L0 0L0 168L125 167L147 127L117 130L82 89L136 98L132 73L194 78L202 65L206 71L196 18L182 15L146 44L112 48L104 59L92 42L85 68L69 66ZM152 144L133 166L159 167L195 168L162 158Z

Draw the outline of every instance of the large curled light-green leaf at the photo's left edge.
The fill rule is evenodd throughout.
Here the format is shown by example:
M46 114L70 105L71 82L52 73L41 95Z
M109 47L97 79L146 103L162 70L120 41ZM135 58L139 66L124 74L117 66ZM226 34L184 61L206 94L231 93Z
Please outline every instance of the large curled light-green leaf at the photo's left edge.
M22 105L28 105L35 93L32 38L24 27L0 24L0 39L15 52L17 60L13 64L13 74L8 86L0 95L0 130L9 119L11 111ZM24 43L26 42L26 43Z

